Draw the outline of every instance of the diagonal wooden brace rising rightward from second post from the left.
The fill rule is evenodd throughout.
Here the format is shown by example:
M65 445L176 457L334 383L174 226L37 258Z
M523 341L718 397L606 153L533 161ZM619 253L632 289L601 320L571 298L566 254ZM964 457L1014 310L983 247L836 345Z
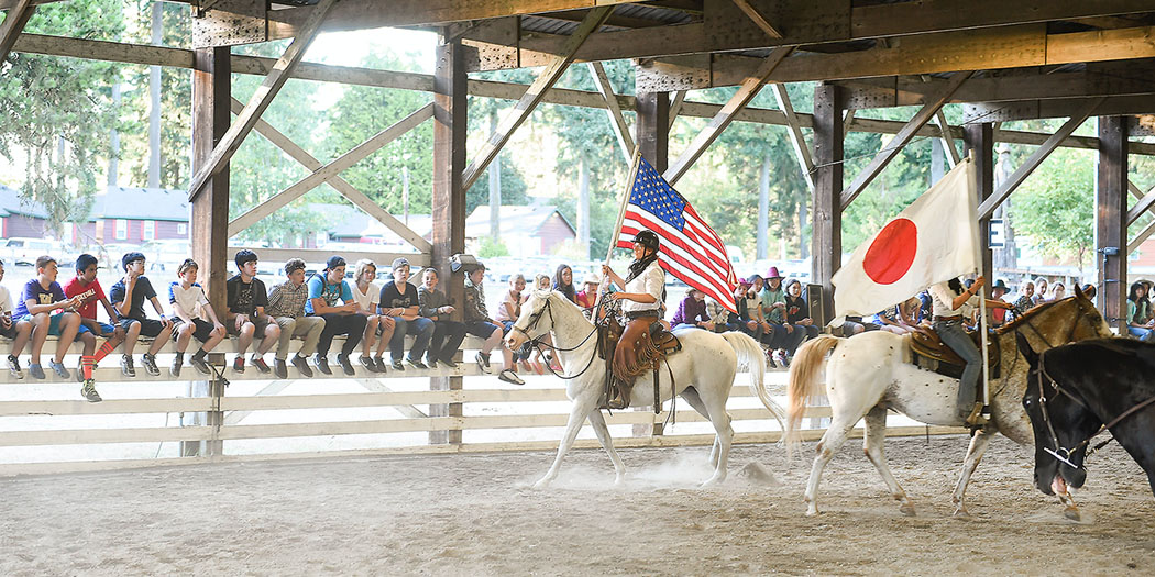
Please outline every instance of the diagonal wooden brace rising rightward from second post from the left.
M498 156L501 148L505 147L506 142L509 142L509 137L513 136L514 130L517 129L529 118L529 114L534 112L534 108L542 102L545 97L545 92L553 87L553 84L561 77L569 67L569 63L574 60L574 54L578 53L578 48L590 37L602 24L605 18L610 17L613 12L613 6L603 6L589 10L586 20L582 21L581 25L574 30L574 33L569 37L566 43L565 51L562 55L556 57L550 66L547 66L542 74L529 85L526 93L522 95L521 99L517 100L517 105L513 107L498 123L497 129L490 135L489 141L482 145L482 150L477 153L477 158L465 167L465 173L463 177L463 187L469 190L469 187L474 186L474 182L482 175L485 167L493 162L493 158Z

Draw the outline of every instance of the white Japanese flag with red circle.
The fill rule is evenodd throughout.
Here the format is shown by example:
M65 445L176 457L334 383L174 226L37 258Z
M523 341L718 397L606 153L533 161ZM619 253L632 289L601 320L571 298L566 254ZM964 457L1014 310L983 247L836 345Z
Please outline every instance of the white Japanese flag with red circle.
M834 314L872 315L978 269L978 190L967 158L834 273Z

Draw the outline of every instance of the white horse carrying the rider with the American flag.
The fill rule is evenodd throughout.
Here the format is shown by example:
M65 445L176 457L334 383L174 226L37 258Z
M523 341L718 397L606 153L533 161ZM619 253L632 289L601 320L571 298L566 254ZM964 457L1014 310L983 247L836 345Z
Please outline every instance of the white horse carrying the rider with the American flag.
M561 360L564 374L572 377L566 387L566 396L573 402L569 409L569 421L565 435L558 445L558 456L553 459L545 477L542 477L535 488L550 484L561 467L561 459L573 447L578 430L586 419L594 427L597 440L602 443L610 460L613 462L614 482L625 480L626 467L613 450L613 441L606 428L598 402L605 387L605 361L597 354L597 336L594 324L581 314L576 305L569 302L559 292L538 290L521 306L521 316L514 323L506 339L507 346L516 350L531 338L550 332L557 357ZM661 400L665 402L680 395L702 417L714 424L716 435L710 450L710 463L715 466L714 475L702 487L722 482L726 477L726 459L733 429L730 427L730 415L725 411L726 399L739 367L750 369L750 388L761 399L778 424L784 411L770 399L763 383L762 349L758 342L742 332L715 334L700 329L685 329L675 332L681 340L681 351L668 357L661 368L658 387ZM671 383L669 375L675 375ZM673 387L677 390L673 390ZM634 406L651 406L654 404L654 376L647 374L638 377L633 392Z

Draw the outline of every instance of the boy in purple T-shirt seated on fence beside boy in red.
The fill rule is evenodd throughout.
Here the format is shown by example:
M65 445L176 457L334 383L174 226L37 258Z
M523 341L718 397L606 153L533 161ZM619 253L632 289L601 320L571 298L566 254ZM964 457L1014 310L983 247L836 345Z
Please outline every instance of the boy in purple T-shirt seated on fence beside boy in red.
M57 342L57 354L49 366L61 379L68 379L68 369L64 366L65 354L80 331L88 332L80 323L80 315L73 313L80 306L82 299L65 297L64 288L57 283L57 260L51 256L40 256L36 260L36 278L24 284L20 304L16 305L15 319L32 324L32 358L28 365L28 372L36 379L44 379L44 369L40 367L40 351L50 335L59 335ZM90 389L84 383L84 389ZM95 389L91 389L95 392ZM82 394L88 398L89 391ZM89 399L94 400L95 399Z

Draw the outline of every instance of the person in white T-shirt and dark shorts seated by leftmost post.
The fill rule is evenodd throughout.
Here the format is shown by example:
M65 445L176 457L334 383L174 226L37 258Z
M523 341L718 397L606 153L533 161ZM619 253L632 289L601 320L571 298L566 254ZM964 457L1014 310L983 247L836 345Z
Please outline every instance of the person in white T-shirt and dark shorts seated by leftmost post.
M209 305L204 288L196 284L199 271L196 261L185 258L185 262L177 268L177 277L180 280L169 285L169 302L172 305L176 323L173 330L177 332L177 354L173 355L172 367L169 369L172 376L180 376L185 352L188 351L193 337L201 342L201 349L193 353L188 362L200 374L211 375L213 370L209 369L208 362L204 362L204 358L228 336L228 330L217 319L213 305Z

